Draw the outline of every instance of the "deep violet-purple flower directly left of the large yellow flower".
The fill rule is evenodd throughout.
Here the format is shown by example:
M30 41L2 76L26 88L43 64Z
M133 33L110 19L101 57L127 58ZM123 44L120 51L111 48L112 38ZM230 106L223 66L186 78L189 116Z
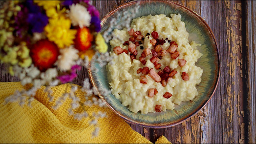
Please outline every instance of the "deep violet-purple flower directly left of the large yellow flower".
M31 31L41 33L43 32L44 26L48 23L48 17L41 13L30 13L28 14L27 22L31 25Z

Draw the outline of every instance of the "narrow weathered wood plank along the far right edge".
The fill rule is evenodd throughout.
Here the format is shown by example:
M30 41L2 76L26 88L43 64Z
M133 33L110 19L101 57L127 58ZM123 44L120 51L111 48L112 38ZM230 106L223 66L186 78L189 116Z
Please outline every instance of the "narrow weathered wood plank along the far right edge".
M245 3L245 2L244 2ZM256 143L256 1L245 3L246 11L246 64L247 64L247 109L248 141Z

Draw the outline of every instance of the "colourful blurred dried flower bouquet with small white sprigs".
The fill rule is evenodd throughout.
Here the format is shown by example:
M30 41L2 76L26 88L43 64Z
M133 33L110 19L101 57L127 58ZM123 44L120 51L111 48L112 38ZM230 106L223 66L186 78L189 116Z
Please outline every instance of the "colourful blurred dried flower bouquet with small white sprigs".
M8 72L17 76L22 85L30 85L27 90L17 90L5 102L31 105L42 85L52 102L51 86L71 82L77 71L89 66L89 61L107 63L110 57L99 33L100 22L99 12L89 0L5 1L0 9L0 62L7 64ZM105 105L95 97L81 103L74 93L77 86L71 85L70 92L55 101L54 109L69 98L69 114L81 119L87 116L86 112L73 112L81 104ZM85 97L96 91L88 78L83 89ZM92 123L95 122L94 119Z

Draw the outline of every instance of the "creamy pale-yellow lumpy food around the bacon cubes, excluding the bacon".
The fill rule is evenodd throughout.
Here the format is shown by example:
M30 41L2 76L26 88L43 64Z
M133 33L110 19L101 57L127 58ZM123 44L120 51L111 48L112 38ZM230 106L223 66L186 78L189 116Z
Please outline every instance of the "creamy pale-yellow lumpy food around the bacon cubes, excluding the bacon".
M128 105L129 110L134 113L140 111L142 114L155 112L155 105L162 105L162 111L166 111L167 109L174 109L174 104L194 99L198 95L196 85L201 82L203 74L203 70L196 66L195 62L197 62L202 54L196 49L196 46L200 44L196 44L194 41L189 42L189 33L186 31L185 23L181 21L181 15L171 14L171 18L163 14L143 16L133 19L130 27L134 31L140 31L145 40L143 44L136 47L138 52L137 60L131 61L126 53L117 55L111 52L114 59L107 64L107 69L112 94L123 105ZM149 69L153 68L156 72L159 71L154 68L154 64L149 60L152 56L145 58L145 65L138 60L143 52L140 46L144 46L144 49L154 49L149 42L153 39L152 36L146 36L147 33L151 34L152 31L158 32L160 40L168 38L168 40L175 41L178 45L177 51L180 53L177 59L185 59L187 61L184 66L180 67L177 59L171 59L170 53L167 53L159 61L162 64L162 70L165 66L169 66L177 71L177 74L172 77L165 87L162 86L161 82L155 82L149 75L146 75L148 83L143 84L140 82L142 74L137 74L137 70L145 66L148 66ZM114 35L115 37L110 41L112 50L115 46L128 50L128 45L123 45L130 38L128 30L126 28L123 30L115 29ZM169 46L169 42L161 45L163 50L168 49ZM189 81L182 79L182 72L189 74ZM148 96L149 88L156 88L158 91L152 98ZM172 94L171 98L164 98L165 92L170 92Z

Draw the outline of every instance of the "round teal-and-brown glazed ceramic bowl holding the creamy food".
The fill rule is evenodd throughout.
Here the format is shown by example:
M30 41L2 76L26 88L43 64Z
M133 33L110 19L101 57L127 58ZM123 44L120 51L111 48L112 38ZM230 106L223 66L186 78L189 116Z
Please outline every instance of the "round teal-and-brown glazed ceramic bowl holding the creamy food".
M124 10L134 11L137 2L138 1L128 2L109 12L102 20L102 31L107 29L112 18L116 18L117 12L123 12ZM117 115L122 117L128 123L150 128L166 128L182 123L196 114L210 101L218 84L220 60L217 43L212 30L206 21L204 21L198 14L173 1L153 0L140 1L140 8L138 13L136 13L135 18L147 16L149 14L165 14L170 17L171 13L181 14L181 20L185 22L186 29L189 32L189 41L195 41L196 43L201 44L201 46L197 46L197 49L203 54L203 56L195 63L204 70L201 77L202 81L196 86L199 95L192 101L182 102L180 105L175 105L174 110L141 114L140 112L131 112L128 109L128 106L122 105L114 95L99 93L99 97L104 100ZM108 50L110 50L109 43L108 46ZM106 67L100 67L99 63L90 64L94 65L94 67L98 69L97 72L88 69L89 77L93 86L96 88L104 87L110 89L107 80Z

